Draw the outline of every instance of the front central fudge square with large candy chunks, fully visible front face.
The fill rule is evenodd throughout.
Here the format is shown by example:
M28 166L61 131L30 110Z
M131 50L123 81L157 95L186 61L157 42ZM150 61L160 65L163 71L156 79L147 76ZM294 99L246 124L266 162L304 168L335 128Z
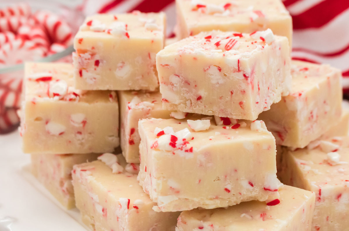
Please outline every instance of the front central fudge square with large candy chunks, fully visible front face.
M263 121L139 121L138 180L156 210L211 209L279 197L275 139Z

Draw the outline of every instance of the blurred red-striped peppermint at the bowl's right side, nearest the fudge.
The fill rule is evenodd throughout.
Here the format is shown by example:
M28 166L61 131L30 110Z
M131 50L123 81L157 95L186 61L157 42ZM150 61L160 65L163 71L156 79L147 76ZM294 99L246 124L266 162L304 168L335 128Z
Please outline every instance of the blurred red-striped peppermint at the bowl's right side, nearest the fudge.
M34 18L44 26L52 42L69 44L72 41L72 29L58 15L45 10L39 10L34 15Z

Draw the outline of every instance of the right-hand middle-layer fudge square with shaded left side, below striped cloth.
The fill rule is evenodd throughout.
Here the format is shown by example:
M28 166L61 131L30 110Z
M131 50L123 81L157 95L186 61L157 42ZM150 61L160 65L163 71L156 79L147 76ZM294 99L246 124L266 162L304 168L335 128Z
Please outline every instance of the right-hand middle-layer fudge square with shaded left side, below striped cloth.
M291 62L292 88L270 110L259 115L276 144L304 148L341 117L342 74L329 65Z

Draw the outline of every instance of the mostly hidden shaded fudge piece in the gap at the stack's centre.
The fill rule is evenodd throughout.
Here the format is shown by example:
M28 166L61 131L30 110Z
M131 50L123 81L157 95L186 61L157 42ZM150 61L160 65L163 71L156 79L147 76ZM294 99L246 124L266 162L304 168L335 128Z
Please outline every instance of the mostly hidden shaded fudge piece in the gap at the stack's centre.
M118 91L118 98L122 155L128 163L139 163L141 138L138 133L138 121L147 118L170 119L172 111L162 109L160 92ZM187 113L184 113L184 116L185 114Z

